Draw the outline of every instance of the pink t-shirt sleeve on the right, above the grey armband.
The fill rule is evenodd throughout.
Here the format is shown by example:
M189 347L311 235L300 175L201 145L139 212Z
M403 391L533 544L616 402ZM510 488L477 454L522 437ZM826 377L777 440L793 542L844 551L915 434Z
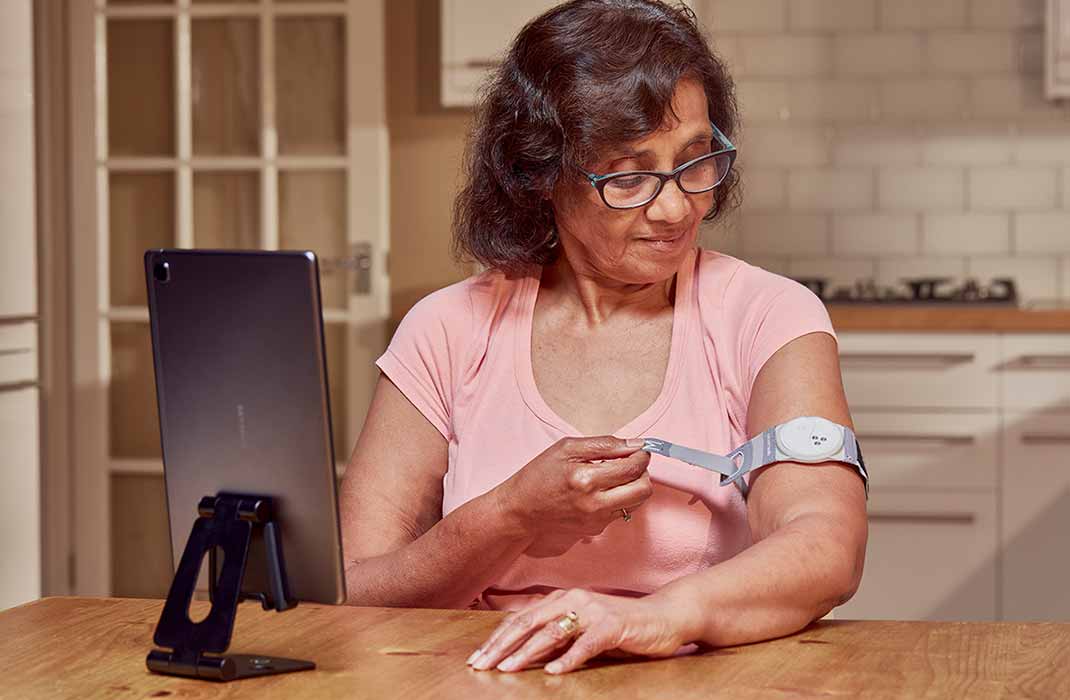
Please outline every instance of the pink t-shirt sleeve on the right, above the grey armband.
M824 303L794 279L762 271L766 279L754 289L754 303L744 319L739 367L747 397L765 363L777 350L808 333L828 333L836 338Z

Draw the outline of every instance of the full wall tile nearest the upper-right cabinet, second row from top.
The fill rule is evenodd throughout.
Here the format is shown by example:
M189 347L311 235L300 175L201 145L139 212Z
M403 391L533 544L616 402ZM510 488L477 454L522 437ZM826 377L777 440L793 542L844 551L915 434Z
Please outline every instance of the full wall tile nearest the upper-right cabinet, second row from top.
M928 69L947 75L1013 73L1018 67L1018 37L1009 31L932 32Z

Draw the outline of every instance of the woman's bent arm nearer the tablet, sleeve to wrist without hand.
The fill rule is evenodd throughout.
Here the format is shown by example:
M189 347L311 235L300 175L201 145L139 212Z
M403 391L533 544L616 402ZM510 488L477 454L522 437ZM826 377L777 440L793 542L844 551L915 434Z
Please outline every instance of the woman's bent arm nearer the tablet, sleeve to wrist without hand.
M496 490L442 518L446 447L380 376L339 492L347 604L465 607L531 543Z

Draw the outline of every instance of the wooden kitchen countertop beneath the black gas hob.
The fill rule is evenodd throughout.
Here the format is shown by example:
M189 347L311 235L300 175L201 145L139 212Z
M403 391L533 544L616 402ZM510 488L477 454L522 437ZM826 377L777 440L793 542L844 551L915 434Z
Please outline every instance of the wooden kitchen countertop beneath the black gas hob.
M837 331L1070 333L1070 307L1026 309L836 303L826 306Z

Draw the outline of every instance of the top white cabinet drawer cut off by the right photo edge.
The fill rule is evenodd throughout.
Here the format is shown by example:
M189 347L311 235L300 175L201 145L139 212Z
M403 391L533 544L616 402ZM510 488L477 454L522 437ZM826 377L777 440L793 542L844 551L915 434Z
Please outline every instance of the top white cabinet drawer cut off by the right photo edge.
M1005 335L1003 346L1005 407L1070 411L1070 337Z

